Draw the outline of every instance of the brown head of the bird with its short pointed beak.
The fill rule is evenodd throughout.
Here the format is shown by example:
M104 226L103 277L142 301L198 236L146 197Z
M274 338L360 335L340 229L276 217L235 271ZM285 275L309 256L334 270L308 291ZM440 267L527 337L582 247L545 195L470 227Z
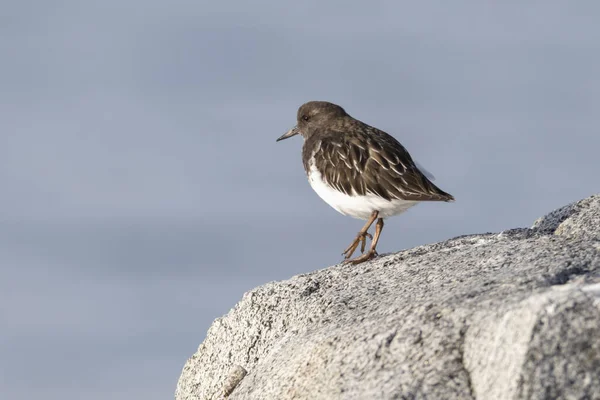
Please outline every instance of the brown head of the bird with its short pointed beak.
M327 101L309 101L298 109L298 122L296 126L281 135L277 141L279 142L298 134L306 139L320 128L347 115L346 111L337 104Z

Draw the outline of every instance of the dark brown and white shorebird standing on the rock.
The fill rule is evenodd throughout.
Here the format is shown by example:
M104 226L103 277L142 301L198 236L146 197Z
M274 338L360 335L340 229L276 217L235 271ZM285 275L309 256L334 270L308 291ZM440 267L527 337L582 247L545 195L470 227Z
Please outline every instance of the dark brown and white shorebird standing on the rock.
M378 255L384 219L420 202L454 201L428 179L398 140L337 104L302 104L296 125L276 141L296 135L304 139L302 164L312 189L339 213L366 221L342 253L344 262L359 264ZM365 252L367 238L371 246ZM361 254L352 258L359 245Z

